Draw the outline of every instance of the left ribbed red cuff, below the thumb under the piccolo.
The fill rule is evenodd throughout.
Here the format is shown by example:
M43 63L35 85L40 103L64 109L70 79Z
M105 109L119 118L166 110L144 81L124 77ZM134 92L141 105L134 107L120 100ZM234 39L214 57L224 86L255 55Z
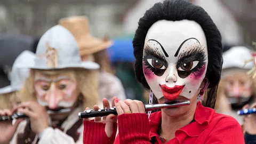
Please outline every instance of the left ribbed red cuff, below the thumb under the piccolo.
M113 134L110 138L105 132L105 125L93 121L84 121L83 144L112 144L115 141L117 123L114 123Z

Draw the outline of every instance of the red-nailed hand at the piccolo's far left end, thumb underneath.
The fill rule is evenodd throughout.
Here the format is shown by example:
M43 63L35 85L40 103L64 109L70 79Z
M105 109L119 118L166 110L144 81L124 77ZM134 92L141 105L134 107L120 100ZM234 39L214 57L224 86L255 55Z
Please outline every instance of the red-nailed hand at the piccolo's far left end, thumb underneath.
M115 102L114 102L115 100L118 100L117 97L114 97L112 99L112 107L115 106ZM103 109L110 108L109 101L106 98L102 99L102 103L103 103ZM87 107L85 110L88 110L88 109L90 109L90 108ZM100 108L98 107L98 105L93 106L94 111L97 111L99 109ZM89 118L84 118L84 120L89 121ZM102 118L95 117L94 122L106 124L105 132L107 134L107 137L110 138L113 134L113 124L117 122L117 116L110 114L108 116L103 116Z

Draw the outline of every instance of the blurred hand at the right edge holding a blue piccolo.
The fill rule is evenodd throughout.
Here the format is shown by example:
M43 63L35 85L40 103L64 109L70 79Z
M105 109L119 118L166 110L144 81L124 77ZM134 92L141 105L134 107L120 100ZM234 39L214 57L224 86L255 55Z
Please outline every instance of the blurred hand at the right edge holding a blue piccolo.
M251 106L248 104L243 107L243 109L256 108L256 102L252 103ZM249 134L256 134L256 115L250 114L244 116L244 130Z

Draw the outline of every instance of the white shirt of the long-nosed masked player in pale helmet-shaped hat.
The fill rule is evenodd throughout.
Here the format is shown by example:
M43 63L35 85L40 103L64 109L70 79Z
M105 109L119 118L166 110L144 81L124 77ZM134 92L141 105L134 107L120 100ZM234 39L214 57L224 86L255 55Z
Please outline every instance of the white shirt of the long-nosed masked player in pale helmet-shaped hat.
M78 128L77 132L80 133L78 140L75 142L72 137L66 134L67 130L69 130L77 121L78 121L78 113L84 111L84 108L78 107L74 109L74 111L68 116L65 122L62 123L61 128L64 130L63 132L59 129L53 129L52 127L48 127L45 131L40 135L40 139L38 144L72 144L72 143L83 143L83 124ZM19 124L17 131L15 132L11 144L17 143L17 134L23 133L28 121L23 121ZM37 134L32 143L35 143L39 135ZM26 143L26 142L23 142Z

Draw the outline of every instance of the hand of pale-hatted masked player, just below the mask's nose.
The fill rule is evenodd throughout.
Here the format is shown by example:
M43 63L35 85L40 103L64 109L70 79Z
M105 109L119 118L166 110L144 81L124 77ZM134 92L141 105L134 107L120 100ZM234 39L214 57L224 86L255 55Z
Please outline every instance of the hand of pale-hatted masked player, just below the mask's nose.
M44 106L35 101L20 103L13 111L18 111L29 117L31 130L42 133L49 126L49 114Z

